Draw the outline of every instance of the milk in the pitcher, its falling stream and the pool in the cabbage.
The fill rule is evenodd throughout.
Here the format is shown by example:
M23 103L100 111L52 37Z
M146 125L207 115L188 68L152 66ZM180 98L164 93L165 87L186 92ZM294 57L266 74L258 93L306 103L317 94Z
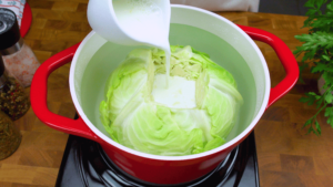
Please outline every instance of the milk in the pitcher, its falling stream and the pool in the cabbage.
M152 94L155 102L169 107L195 107L193 100L194 81L190 84L185 79L170 80L171 51L169 43L170 21L168 20L170 18L161 8L165 4L165 0L113 0L112 3L119 24L130 37L165 52L167 73L154 79ZM189 92L185 91L191 91L192 96L186 95L185 93L189 94Z

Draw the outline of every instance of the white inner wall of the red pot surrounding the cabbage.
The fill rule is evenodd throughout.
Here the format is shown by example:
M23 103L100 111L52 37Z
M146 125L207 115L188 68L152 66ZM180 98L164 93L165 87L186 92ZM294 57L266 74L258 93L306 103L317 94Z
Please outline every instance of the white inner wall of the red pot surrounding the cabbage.
M226 139L229 143L210 152L225 148L248 134L264 112L270 94L266 63L255 43L220 15L196 8L173 6L170 44L191 45L210 54L215 63L233 74L244 98L238 123ZM73 59L70 75L73 102L88 126L104 139L110 136L100 121L99 104L103 100L105 82L135 48L144 46L114 44L91 32ZM119 146L110 139L107 142Z

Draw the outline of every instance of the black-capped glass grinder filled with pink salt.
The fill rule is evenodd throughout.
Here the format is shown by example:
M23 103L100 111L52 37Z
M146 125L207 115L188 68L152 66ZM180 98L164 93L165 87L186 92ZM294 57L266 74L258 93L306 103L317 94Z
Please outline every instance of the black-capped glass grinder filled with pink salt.
M0 53L4 66L21 84L30 86L39 67L36 55L20 34L17 15L13 11L0 8Z

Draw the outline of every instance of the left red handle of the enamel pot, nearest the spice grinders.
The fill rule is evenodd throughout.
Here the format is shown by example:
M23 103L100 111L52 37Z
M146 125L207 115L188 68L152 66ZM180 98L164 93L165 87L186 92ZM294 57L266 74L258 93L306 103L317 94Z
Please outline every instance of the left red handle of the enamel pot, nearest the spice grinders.
M100 138L87 126L81 117L72 120L54 114L49 111L47 104L49 75L54 70L72 61L79 44L51 56L36 71L30 90L31 107L37 117L51 128L99 142Z

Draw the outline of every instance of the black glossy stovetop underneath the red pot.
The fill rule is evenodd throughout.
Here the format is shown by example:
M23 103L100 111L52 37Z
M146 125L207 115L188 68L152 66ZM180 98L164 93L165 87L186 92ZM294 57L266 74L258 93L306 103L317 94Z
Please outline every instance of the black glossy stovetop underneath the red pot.
M158 185L129 177L109 159L98 143L70 135L56 186L145 187ZM254 133L252 132L243 143L233 149L212 173L195 181L173 186L259 187Z

